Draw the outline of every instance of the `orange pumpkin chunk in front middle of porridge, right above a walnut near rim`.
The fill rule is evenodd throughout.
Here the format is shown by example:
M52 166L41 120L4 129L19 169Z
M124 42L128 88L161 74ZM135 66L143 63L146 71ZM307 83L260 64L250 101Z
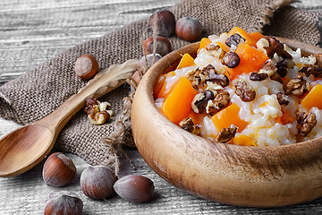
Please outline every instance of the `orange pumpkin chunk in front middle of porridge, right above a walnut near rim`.
M222 128L235 125L238 127L238 132L242 132L248 124L240 118L240 109L235 103L232 103L230 106L225 107L225 109L220 110L216 115L212 116L211 119L216 126L216 130L220 132Z

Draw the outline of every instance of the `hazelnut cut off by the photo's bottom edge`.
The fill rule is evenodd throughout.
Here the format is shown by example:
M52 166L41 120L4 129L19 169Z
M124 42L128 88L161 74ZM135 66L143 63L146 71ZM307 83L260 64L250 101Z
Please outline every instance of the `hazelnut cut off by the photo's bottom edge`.
M44 215L80 215L82 209L83 202L77 194L56 191L48 196Z

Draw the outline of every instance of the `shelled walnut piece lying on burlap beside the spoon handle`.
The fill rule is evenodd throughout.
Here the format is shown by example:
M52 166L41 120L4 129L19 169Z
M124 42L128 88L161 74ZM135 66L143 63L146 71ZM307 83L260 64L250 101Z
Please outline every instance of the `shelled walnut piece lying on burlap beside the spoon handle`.
M84 111L89 116L89 121L94 125L105 124L106 121L114 114L109 109L111 104L108 102L100 102L96 98L88 99Z

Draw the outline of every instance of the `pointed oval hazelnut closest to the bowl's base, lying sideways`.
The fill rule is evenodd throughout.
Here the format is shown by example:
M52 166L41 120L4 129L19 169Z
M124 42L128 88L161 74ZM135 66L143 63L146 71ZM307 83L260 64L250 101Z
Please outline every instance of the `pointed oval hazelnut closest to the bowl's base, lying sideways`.
M148 202L154 194L153 182L145 176L129 175L118 179L114 184L114 191L129 202Z

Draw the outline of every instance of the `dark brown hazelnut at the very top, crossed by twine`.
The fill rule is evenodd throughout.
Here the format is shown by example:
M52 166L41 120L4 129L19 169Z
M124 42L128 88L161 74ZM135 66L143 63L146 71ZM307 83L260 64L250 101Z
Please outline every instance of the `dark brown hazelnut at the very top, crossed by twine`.
M148 20L148 25L153 28L155 23L157 23L157 35L169 37L175 28L174 13L168 10L153 13Z

